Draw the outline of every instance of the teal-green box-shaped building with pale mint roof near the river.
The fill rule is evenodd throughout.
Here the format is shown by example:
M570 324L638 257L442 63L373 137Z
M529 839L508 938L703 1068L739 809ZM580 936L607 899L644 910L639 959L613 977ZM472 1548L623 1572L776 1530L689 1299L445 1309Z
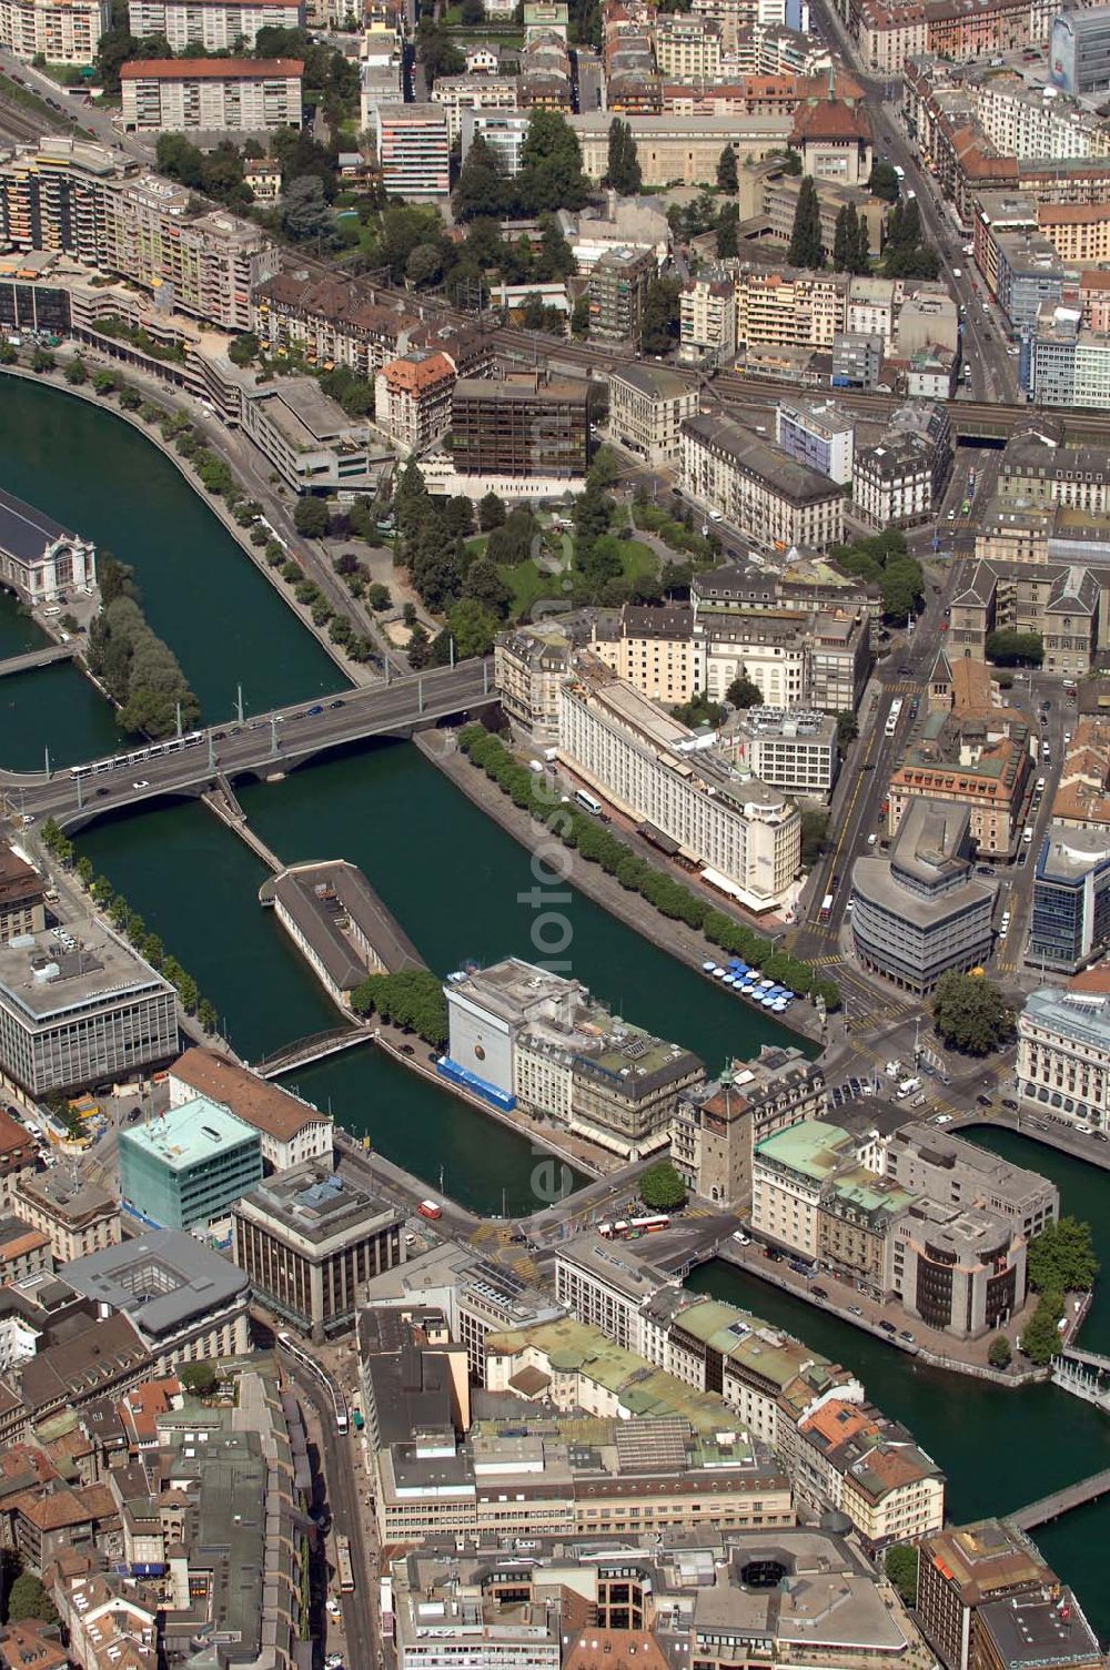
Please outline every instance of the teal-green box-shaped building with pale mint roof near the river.
M197 1096L119 1132L127 1209L159 1229L199 1229L226 1217L262 1176L257 1131Z

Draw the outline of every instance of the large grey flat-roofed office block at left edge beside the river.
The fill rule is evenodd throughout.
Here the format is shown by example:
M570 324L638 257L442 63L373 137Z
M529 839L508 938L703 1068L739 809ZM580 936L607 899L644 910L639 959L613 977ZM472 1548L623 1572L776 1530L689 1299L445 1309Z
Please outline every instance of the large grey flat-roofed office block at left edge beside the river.
M177 1054L176 992L94 922L0 945L0 1070L42 1099L127 1080Z

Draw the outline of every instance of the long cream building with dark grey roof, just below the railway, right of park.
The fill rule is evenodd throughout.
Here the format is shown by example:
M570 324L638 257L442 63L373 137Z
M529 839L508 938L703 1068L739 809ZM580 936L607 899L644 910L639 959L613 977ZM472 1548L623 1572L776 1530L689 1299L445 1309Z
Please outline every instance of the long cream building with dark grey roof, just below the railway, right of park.
M829 478L731 418L699 416L682 424L679 479L762 549L824 551L843 539L844 498Z

